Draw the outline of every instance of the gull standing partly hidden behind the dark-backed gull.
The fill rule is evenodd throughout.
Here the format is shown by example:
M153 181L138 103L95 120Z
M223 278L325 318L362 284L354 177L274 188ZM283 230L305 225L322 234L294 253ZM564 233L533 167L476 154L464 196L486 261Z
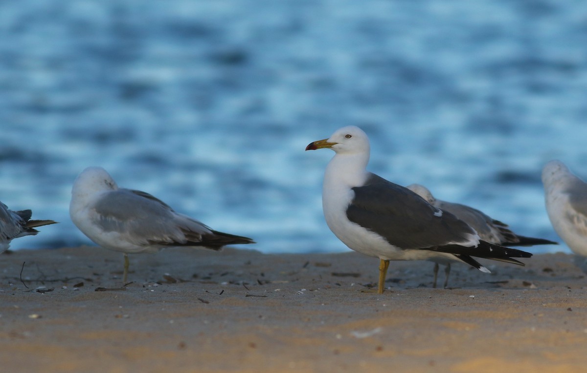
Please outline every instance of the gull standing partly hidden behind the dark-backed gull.
M455 215L460 220L470 225L483 241L490 244L497 244L501 246L531 246L531 245L558 245L554 241L548 239L524 237L517 235L510 230L507 224L499 220L495 220L476 208L465 206L460 203L451 203L436 199L430 190L420 184L411 184L407 189L418 194L428 203L434 207L438 207L443 211L447 211ZM450 273L450 262L448 262L446 269L446 278L444 279L444 287L448 285L448 274ZM438 276L438 263L434 264L434 288L436 288L436 279Z

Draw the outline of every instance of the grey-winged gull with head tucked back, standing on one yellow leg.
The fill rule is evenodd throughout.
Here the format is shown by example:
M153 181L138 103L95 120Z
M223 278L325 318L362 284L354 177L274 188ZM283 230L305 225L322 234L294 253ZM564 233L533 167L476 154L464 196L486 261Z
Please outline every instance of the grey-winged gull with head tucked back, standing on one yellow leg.
M69 215L96 244L124 253L123 282L129 272L129 253L156 252L164 247L204 247L254 241L214 231L149 193L119 188L102 167L87 167L73 183Z

